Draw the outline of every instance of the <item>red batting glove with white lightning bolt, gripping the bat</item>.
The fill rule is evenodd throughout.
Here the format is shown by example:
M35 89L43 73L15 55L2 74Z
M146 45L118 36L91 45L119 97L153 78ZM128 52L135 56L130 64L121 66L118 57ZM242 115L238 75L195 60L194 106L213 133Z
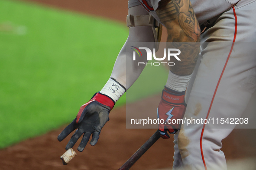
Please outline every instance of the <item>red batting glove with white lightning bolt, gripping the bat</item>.
M169 139L167 131L175 134L181 127L185 114L185 91L178 92L165 87L162 91L162 99L157 108L157 118L159 118L159 132L163 139Z

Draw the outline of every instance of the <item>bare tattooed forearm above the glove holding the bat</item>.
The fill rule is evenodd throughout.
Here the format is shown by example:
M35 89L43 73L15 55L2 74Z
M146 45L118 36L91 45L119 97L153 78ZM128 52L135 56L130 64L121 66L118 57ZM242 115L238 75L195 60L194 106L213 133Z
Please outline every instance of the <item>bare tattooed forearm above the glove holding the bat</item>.
M200 41L200 27L190 0L161 0L156 13L167 28L167 42L177 42L175 46L181 50L181 61L170 66L170 70L177 75L190 75L200 46L199 43L185 43Z

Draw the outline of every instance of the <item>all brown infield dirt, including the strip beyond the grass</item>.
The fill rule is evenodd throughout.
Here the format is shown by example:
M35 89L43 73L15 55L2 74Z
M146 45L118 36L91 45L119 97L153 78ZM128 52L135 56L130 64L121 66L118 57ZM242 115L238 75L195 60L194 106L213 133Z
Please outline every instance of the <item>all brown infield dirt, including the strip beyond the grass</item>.
M103 16L126 22L127 0L33 0L36 3L55 6L80 13ZM118 8L117 8L118 6ZM159 96L140 101L152 105L159 102ZM156 110L156 108L149 108ZM57 136L64 129L28 139L0 150L0 170L114 170L118 169L156 129L126 129L126 107L114 108L110 121L102 129L99 142L94 147L87 145L68 165L62 165L59 158L65 152L68 139L58 142ZM138 110L134 110L137 112ZM227 160L255 157L256 130L235 129L223 141ZM79 141L78 141L79 143ZM198 144L199 145L199 144ZM153 170L169 167L173 161L172 139L159 139L133 166L133 170Z

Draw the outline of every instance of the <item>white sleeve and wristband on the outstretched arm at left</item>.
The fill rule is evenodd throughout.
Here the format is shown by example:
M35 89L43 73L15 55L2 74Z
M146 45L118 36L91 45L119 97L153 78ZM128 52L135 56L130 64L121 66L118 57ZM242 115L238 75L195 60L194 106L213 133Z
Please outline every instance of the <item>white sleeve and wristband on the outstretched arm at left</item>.
M143 6L133 6L128 10L129 15L148 15L149 13L143 8ZM145 66L138 66L134 64L133 54L126 52L128 42L133 42L136 46L136 42L154 42L154 35L152 26L135 26L129 28L129 36L120 50L117 60L114 64L110 79L100 93L106 94L113 99L114 102L125 93L127 89L133 85L138 79L139 75L143 71ZM152 43L152 48L154 43ZM144 50L143 50L144 51ZM142 52L143 54L143 52ZM146 56L146 54L143 54ZM139 58L139 57L138 57ZM140 62L146 63L146 57L140 57Z

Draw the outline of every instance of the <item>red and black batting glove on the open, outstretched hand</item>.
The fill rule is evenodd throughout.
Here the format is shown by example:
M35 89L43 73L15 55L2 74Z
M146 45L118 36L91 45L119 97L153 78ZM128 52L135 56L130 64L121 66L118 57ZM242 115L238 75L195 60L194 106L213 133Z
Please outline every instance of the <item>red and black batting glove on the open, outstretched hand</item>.
M65 139L71 132L77 129L72 135L66 150L72 148L78 139L83 138L78 146L78 151L83 151L92 135L90 144L94 146L100 135L102 127L109 120L110 110L115 102L107 95L96 93L86 104L80 107L76 118L58 135L58 141Z

